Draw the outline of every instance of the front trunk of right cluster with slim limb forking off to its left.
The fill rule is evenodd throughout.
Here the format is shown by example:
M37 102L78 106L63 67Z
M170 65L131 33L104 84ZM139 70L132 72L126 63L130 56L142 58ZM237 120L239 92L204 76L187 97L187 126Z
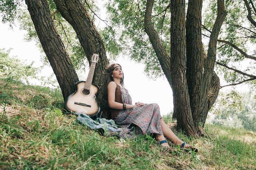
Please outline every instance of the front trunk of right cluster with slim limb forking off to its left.
M174 117L177 119L177 128L186 131L187 135L196 137L197 132L193 124L185 75L185 1L171 2L171 60L151 23L154 0L147 1L144 26L164 74L173 89Z

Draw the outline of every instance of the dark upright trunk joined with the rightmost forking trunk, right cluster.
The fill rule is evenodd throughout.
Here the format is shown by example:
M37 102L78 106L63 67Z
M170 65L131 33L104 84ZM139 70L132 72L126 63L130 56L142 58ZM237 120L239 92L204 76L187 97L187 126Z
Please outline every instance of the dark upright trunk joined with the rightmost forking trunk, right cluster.
M195 128L204 126L207 114L220 89L218 76L213 72L216 61L216 43L225 19L224 0L218 0L218 15L211 32L208 54L202 44L202 0L189 1L186 17L187 82Z

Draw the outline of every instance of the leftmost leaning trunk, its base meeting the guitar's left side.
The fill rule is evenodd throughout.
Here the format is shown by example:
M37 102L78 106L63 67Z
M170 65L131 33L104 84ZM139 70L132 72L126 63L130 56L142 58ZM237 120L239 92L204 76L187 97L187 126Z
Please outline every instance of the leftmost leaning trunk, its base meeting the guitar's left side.
M75 91L78 76L58 35L47 0L26 0L36 33L61 87L63 98Z

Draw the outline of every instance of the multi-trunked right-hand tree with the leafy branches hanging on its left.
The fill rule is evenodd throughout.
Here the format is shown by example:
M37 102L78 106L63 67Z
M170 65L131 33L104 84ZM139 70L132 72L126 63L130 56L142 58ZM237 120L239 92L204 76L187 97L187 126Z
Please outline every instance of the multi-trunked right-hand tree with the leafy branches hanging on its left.
M119 33L121 43L126 38L126 41L130 39L133 44L143 44L142 48L146 48L138 49L135 45L128 47L131 56L139 56L137 61L143 60L148 70L151 65L161 66L173 90L173 117L177 119L177 128L185 130L188 135L197 136L200 134L199 124L203 126L220 89L219 78L213 69L217 38L226 11L224 0L218 0L218 15L206 54L201 37L202 0L189 1L187 11L185 6L184 0L173 0L171 3L148 0L146 4L112 0L107 4L107 9L112 19L111 25L123 28ZM126 16L129 17L124 20ZM143 26L141 18L144 18ZM139 32L143 28L155 55L148 50L148 41ZM153 56L157 57L157 63Z

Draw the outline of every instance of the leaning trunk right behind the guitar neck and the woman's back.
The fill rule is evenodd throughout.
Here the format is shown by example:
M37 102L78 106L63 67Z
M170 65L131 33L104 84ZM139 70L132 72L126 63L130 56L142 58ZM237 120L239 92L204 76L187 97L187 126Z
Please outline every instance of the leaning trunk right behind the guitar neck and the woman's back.
M99 61L96 64L94 71L93 83L100 88L97 99L101 105L101 117L107 118L108 100L103 93L103 85L105 80L104 73L109 62L106 57L103 41L81 0L54 0L54 2L61 15L76 31L77 37L85 51L89 63L93 53L99 54Z

